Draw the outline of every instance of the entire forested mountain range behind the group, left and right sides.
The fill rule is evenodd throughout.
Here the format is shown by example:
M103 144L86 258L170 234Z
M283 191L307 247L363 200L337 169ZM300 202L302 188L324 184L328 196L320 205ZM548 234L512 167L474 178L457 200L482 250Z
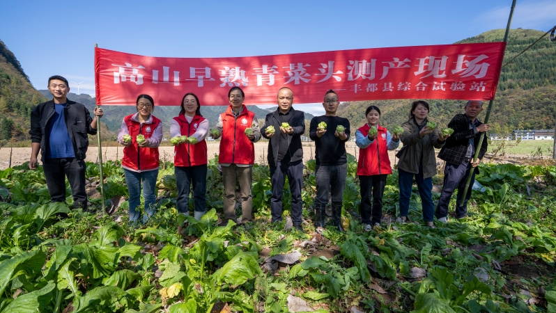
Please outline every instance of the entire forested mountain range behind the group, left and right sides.
M543 32L531 29L513 29L504 56L504 63L516 56L538 39ZM456 43L501 41L503 29L481 33ZM556 115L556 42L548 36L531 49L520 55L513 63L502 69L496 99L491 113L491 123L507 125L511 129L552 129ZM31 86L17 58L0 41L0 141L15 136L17 139L29 138L29 114L36 104L51 96L47 90L43 95ZM88 109L95 106L95 98L88 95L70 93L69 99L81 102ZM386 127L401 125L408 118L411 99L344 102L339 115L350 120L353 128L364 124L364 111L367 106L378 106L383 115L381 124ZM456 114L463 112L463 101L426 99L431 104L431 120L446 125ZM486 107L486 106L485 106ZM302 109L302 106L296 108ZM130 106L105 106L106 123L110 131L116 131L123 116L134 111ZM225 106L202 106L201 113L215 125L218 114ZM264 118L268 110L249 106L258 118ZM178 113L178 106L157 106L155 115L164 121L164 129L169 130L169 121ZM307 119L312 115L306 114ZM484 118L484 113L479 116Z

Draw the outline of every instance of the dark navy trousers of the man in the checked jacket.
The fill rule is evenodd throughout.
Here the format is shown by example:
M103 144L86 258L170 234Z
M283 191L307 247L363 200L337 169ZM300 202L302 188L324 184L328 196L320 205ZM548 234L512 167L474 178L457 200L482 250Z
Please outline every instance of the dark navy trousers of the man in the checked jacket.
M442 193L440 200L438 200L438 207L436 207L436 218L442 218L448 215L448 205L452 193L458 188L458 200L456 201L456 218L463 218L468 214L468 201L471 198L471 186L468 188L468 193L465 195L463 206L460 207L461 198L465 184L468 182L468 175L472 171L471 186L475 182L475 171L471 163L463 161L461 164L454 164L446 162L444 166L444 186L442 186Z

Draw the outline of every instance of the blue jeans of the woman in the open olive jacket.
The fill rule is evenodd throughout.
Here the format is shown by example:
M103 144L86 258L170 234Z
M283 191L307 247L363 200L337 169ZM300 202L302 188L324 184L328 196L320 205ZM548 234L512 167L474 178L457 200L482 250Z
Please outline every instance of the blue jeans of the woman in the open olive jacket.
M398 169L398 182L400 185L400 216L408 216L409 201L411 198L411 188L413 186L413 177L417 182L419 195L421 196L421 204L423 208L423 219L426 222L434 220L434 203L433 203L433 177L423 178L423 168L419 166L417 175L412 172L406 172Z

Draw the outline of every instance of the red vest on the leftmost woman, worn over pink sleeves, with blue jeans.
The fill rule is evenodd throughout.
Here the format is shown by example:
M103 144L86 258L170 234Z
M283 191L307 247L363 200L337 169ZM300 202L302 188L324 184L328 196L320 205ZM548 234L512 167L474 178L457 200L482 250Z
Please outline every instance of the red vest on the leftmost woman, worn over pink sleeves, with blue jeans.
M160 120L150 115L151 122L141 123L134 119L137 113L131 114L123 118L125 125L128 126L131 136L131 145L123 148L122 166L132 168L134 170L152 170L160 166L158 157L158 148L139 147L137 145L137 135L142 134L146 138L153 136L155 129L160 125Z

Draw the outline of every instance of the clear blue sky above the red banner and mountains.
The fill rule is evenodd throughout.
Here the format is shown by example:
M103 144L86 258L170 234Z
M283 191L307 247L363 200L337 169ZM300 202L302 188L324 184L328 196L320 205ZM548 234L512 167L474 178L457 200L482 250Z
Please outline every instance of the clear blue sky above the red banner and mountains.
M99 47L146 56L224 57L442 45L504 29L511 0L4 1L0 40L31 83L61 74L94 95ZM512 29L548 31L556 1L518 0ZM303 109L322 113L321 104Z

